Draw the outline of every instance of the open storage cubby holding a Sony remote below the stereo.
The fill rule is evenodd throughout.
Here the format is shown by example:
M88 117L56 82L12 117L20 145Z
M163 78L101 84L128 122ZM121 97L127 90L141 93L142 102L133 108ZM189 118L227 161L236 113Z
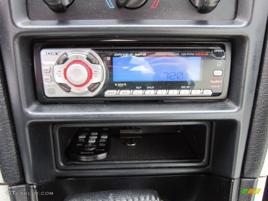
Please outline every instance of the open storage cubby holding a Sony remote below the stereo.
M210 122L55 124L53 131L58 169L208 164Z

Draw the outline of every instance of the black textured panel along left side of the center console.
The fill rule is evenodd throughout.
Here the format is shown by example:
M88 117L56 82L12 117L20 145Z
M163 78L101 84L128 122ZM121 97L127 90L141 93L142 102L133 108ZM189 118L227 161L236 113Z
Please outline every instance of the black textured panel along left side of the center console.
M5 184L15 184L23 181L23 173L6 87L0 51L0 168Z

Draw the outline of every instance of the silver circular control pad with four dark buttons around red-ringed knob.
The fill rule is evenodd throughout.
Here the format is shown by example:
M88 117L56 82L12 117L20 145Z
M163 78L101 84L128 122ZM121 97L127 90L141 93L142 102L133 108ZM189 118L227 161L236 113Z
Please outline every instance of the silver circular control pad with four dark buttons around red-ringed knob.
M107 81L107 67L91 49L66 49L53 66L53 80L59 97L93 97Z

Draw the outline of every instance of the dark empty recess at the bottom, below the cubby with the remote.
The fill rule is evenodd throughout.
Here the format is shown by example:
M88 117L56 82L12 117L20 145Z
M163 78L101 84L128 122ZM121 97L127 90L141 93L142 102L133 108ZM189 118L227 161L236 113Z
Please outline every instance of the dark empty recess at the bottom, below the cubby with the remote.
M233 196L239 180L217 177L213 175L172 175L150 177L92 177L74 179L56 179L35 186L35 191L54 192L53 195L38 194L39 201L64 200L68 195L94 191L120 189L153 189L158 192L161 200L170 201L226 201ZM66 190L68 189L68 190Z

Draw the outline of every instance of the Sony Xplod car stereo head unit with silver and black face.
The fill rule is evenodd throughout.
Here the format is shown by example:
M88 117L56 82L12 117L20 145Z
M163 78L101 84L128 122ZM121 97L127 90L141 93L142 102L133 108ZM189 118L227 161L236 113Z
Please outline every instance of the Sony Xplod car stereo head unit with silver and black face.
M224 99L230 44L44 48L35 57L39 99ZM40 58L40 60L39 60ZM40 78L40 79L38 79ZM38 84L38 83L37 83Z

